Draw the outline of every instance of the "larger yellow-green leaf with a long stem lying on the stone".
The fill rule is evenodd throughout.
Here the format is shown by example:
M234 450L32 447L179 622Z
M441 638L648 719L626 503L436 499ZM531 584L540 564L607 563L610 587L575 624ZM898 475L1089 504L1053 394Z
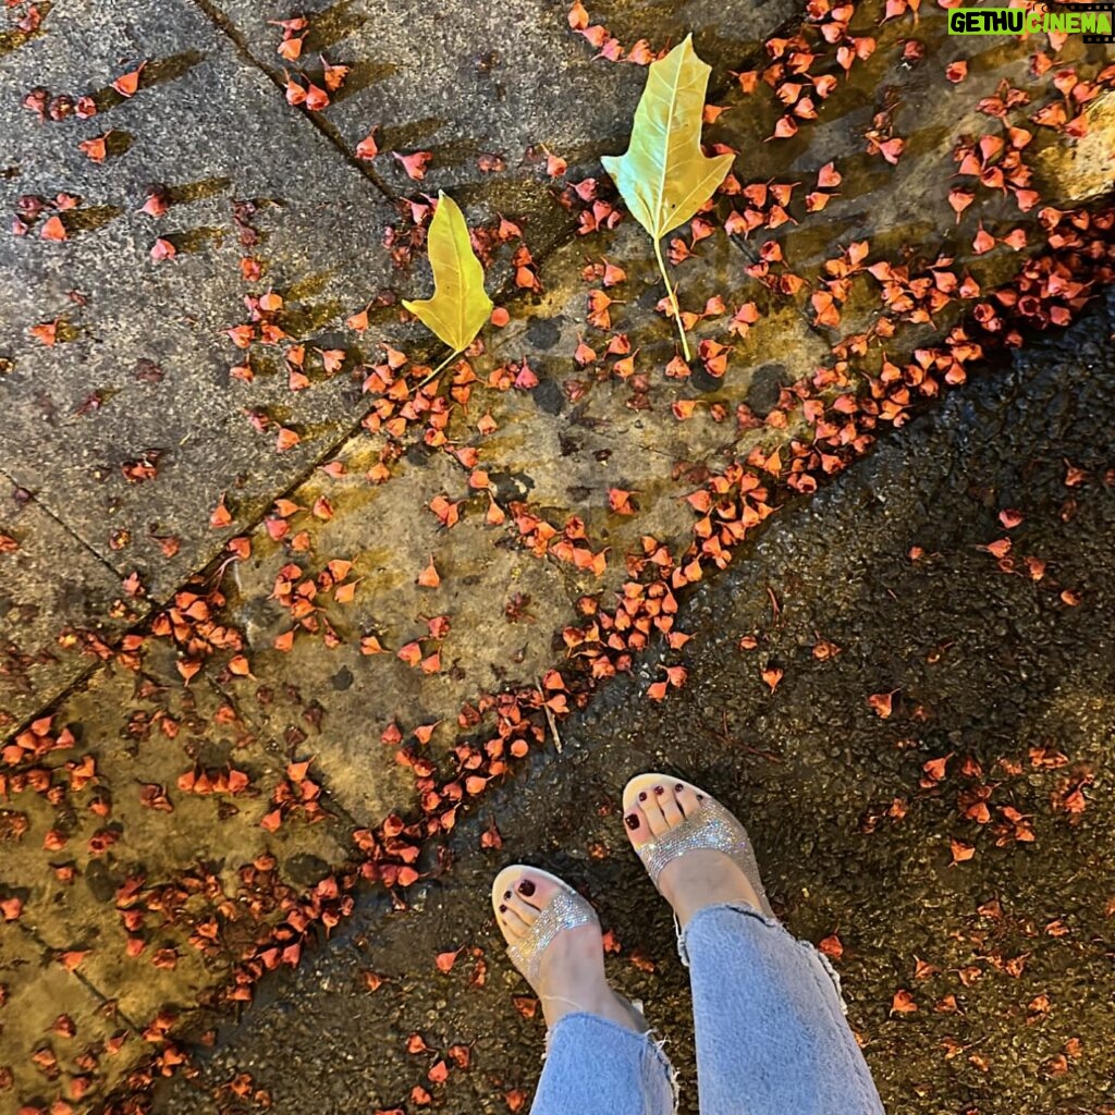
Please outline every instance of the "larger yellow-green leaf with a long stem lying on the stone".
M731 155L709 158L700 149L705 91L711 71L712 67L697 57L692 36L687 36L685 42L653 62L647 72L647 87L634 113L627 152L603 158L604 169L614 180L631 215L655 241L686 359L689 359L689 342L681 329L677 298L666 274L659 241L712 196L731 167Z

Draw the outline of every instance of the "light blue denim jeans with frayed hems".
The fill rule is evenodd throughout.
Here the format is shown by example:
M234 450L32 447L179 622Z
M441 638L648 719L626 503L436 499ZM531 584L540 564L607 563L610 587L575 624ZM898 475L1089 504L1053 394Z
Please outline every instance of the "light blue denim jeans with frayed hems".
M725 903L696 913L678 948L701 1115L884 1115L840 979L812 944L746 903ZM550 1031L531 1115L675 1109L673 1070L652 1035L585 1012Z

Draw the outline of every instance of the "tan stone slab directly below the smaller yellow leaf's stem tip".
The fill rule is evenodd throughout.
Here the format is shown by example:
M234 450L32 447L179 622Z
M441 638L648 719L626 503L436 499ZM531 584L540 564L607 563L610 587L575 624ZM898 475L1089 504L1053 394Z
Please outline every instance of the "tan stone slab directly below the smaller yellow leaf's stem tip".
M385 746L384 729L396 724L409 737L418 725L437 723L429 747L418 752L444 757L466 700L539 686L553 662L550 633L582 591L552 563L515 546L505 529L485 523L488 497L469 489L467 472L448 455L418 449L414 463L392 464L391 478L379 486L366 478L377 456L367 435L352 438L333 458L345 475L318 471L290 493L302 510L287 520L289 539L272 542L268 526L260 527L251 558L227 574L234 586L229 615L244 630L252 662L252 677L227 681L231 691L272 738L301 739L319 755L331 793L362 825L378 824L414 793L413 772L395 762L404 740ZM452 527L429 510L437 496L465 501ZM326 520L313 512L322 498L331 508ZM292 550L299 536L300 549ZM345 603L327 593L316 598L338 639L330 646L323 627L317 633L297 628L271 595L288 564L302 571L288 580L304 582L333 560L351 562L346 581L355 589ZM418 584L432 560L440 583ZM447 633L433 633L429 621L437 617L447 619ZM291 649L274 649L292 630ZM368 637L382 652L365 652ZM414 643L419 658L410 665L399 652Z

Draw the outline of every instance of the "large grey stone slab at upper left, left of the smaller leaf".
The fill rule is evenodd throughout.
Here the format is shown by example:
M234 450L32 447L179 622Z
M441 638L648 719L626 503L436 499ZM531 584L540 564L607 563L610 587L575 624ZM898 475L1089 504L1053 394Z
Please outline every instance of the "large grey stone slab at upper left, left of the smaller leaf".
M134 96L110 88L144 60ZM223 330L249 321L245 294L273 287L285 299L278 323L333 347L330 330L390 282L379 244L390 211L185 0L127 18L101 0L52 11L6 59L4 84L6 222L21 195L62 191L80 203L60 216L65 242L40 236L50 210L26 236L0 241L3 465L122 576L138 570L161 597L221 549L229 532L209 521L222 493L231 529L250 522L359 418L356 357L330 376L309 351L311 386L292 391L277 348L245 353ZM38 85L90 94L100 110L40 123L17 99ZM108 129L103 163L78 149ZM138 212L151 183L172 197L157 219ZM233 220L243 200L258 206L249 223L260 242L248 246ZM158 236L177 245L175 259L151 258ZM261 261L258 281L242 278L244 255ZM29 336L56 319L55 347ZM374 324L363 342L374 348L378 336ZM229 372L245 355L250 384ZM245 410L266 415L269 428L253 428ZM301 443L277 454L280 426ZM124 472L149 450L157 478ZM171 558L166 537L180 542Z

